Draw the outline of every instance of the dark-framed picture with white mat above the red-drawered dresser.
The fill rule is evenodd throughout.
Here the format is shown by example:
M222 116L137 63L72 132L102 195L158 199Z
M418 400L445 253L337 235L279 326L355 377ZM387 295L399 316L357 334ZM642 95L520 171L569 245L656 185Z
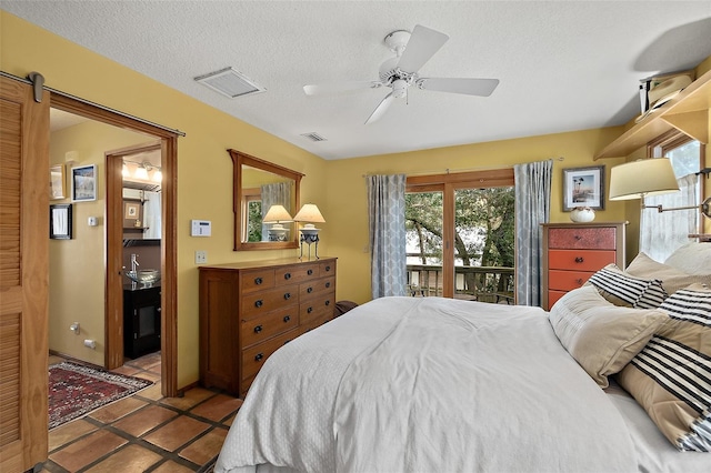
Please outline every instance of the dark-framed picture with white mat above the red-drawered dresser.
M604 165L563 169L563 211L604 209Z

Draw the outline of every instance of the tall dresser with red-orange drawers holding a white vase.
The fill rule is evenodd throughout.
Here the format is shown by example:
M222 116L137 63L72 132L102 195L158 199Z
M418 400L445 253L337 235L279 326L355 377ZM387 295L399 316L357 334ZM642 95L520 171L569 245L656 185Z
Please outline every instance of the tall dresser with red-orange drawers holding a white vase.
M550 310L601 268L624 268L625 224L543 223L543 309Z

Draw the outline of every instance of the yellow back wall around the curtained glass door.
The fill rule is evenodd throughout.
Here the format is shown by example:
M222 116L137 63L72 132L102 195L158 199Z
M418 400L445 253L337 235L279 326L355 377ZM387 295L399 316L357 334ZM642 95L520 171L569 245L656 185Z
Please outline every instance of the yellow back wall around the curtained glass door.
M329 251L339 258L338 296L359 303L371 298L365 174L439 174L447 169L503 168L562 157L563 161L553 161L551 221L565 222L570 220L562 211L562 170L604 165L608 189L610 168L623 160L593 161L592 157L619 134L620 128L608 128L329 162L324 218L330 229ZM607 202L595 220L624 220L624 204Z

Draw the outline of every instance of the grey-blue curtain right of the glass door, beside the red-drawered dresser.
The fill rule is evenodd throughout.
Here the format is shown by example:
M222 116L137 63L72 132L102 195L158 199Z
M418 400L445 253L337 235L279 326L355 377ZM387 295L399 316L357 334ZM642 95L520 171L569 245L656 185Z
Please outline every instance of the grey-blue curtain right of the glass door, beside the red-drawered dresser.
M517 301L522 305L541 304L543 246L541 223L551 214L553 161L515 164L515 244Z

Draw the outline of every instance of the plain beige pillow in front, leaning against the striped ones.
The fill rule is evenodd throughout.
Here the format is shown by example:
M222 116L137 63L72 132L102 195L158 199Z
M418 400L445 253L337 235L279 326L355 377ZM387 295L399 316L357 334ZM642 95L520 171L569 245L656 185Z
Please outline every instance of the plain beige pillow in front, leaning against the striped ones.
M605 301L592 285L574 289L551 308L549 319L568 353L601 388L649 342L669 316Z

